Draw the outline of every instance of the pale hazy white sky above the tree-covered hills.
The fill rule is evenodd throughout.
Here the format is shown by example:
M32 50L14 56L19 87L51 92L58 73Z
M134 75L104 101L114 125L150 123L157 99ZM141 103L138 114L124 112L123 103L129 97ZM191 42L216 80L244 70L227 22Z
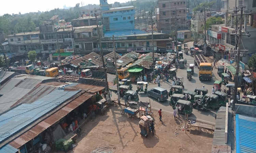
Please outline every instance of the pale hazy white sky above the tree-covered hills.
M108 0L108 3L120 2L124 3L129 0ZM54 8L63 8L74 7L75 4L83 2L83 5L87 4L100 4L100 0L41 0L41 1L32 1L32 0L3 0L1 3L0 16L4 14L21 14L29 12L45 12L53 10Z

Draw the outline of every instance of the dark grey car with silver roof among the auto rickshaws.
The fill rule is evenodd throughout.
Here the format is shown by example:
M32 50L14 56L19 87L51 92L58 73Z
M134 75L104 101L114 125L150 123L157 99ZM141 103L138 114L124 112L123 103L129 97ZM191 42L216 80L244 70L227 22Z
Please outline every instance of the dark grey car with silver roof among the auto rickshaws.
M158 102L168 99L168 91L161 87L155 87L147 91L148 97L154 97Z

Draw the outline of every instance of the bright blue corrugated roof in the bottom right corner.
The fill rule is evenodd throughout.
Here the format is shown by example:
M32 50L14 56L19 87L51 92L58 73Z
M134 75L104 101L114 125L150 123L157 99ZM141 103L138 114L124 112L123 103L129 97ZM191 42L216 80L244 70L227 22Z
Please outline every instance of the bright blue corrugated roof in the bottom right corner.
M237 152L256 152L256 118L236 115Z

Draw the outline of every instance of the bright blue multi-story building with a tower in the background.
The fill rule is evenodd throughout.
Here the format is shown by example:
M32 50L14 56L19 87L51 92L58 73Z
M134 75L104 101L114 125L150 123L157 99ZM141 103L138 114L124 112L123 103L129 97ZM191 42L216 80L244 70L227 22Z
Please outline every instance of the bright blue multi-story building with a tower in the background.
M112 7L107 0L100 0L100 8L106 31L129 31L134 29L135 7Z

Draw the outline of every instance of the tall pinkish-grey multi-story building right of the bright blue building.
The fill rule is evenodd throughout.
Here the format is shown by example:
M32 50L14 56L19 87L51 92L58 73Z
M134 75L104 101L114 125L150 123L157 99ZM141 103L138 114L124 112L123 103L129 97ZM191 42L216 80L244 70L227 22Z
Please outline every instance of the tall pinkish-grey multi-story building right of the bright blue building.
M187 28L186 0L158 0L157 30L169 33L176 29ZM176 27L175 27L175 18Z

